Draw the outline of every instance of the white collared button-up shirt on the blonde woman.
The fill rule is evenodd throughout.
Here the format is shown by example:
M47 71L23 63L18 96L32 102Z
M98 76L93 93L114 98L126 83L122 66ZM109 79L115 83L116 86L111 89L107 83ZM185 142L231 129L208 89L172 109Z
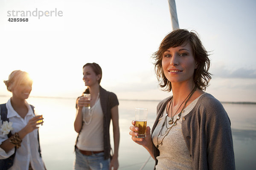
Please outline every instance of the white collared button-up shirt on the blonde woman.
M11 99L6 103L6 108L8 110L7 118L9 122L12 122L12 134L19 132L23 127L27 125L29 120L34 117L32 108L28 103L26 103L28 108L28 113L23 119L20 115L12 108ZM0 115L1 118L1 115ZM0 119L1 120L1 119ZM0 121L0 128L2 126L2 120ZM0 130L0 144L8 139L7 135L3 135ZM35 129L31 133L28 133L21 142L21 147L16 150L15 159L13 166L9 170L28 170L29 163L34 170L44 170L44 163L38 152L38 129ZM15 148L6 153L2 148L0 148L0 159L6 159L15 152Z

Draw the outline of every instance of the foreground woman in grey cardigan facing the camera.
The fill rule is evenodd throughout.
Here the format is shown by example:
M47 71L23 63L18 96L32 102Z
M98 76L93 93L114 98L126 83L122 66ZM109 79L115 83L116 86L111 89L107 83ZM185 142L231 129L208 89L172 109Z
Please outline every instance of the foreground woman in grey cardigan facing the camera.
M221 102L203 90L209 84L210 60L194 31L178 29L163 39L154 53L160 87L172 96L157 105L157 119L147 127L143 145L155 159L156 170L234 170L230 119Z

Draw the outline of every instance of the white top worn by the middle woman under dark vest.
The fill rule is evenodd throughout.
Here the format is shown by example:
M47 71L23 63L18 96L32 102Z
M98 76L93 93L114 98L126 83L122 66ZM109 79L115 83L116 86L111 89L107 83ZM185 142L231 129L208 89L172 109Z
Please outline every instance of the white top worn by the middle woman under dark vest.
M92 111L92 119L89 125L83 123L81 132L79 133L76 147L79 150L102 151L104 150L103 141L103 111L100 99L97 99L95 105L90 108ZM90 117L85 113L84 119L89 122Z

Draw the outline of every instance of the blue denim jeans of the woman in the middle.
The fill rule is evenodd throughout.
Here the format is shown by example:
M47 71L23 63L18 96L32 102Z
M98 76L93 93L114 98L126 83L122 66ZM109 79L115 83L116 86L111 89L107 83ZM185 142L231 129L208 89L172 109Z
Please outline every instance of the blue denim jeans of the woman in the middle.
M110 159L104 159L104 152L83 155L76 148L75 170L109 170Z

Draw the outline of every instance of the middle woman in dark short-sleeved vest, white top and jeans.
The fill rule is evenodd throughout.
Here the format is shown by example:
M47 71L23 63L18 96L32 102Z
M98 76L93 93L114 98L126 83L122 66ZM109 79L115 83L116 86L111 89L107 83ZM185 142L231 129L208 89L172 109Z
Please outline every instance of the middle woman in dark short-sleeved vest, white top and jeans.
M99 84L101 67L93 63L83 66L83 80L90 100L81 96L76 102L74 127L79 133L76 142L75 170L117 170L119 149L118 99ZM90 109L83 112L83 107ZM109 126L112 119L114 153L111 155ZM111 160L110 160L111 159Z

